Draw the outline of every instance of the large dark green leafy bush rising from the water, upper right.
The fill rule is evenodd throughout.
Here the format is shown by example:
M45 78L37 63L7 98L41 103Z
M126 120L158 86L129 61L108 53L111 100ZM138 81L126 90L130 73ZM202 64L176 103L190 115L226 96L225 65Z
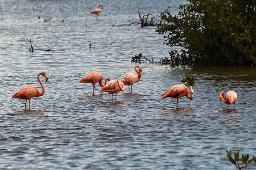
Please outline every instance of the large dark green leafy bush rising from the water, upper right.
M173 65L255 65L256 0L188 0L172 16L160 14L156 29L170 51ZM217 12L218 11L218 12Z

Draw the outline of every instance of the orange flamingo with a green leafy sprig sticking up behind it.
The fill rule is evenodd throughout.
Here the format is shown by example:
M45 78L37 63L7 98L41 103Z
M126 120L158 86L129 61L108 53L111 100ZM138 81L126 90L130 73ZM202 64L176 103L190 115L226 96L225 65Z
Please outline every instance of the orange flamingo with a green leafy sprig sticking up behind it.
M191 86L189 87L189 91L188 91L188 87L186 87L186 85L184 85L184 84L174 85L168 91L164 92L164 94L162 94L162 98L166 98L166 97L176 98L177 99L177 105L176 105L177 109L178 109L179 99L183 96L186 96L190 100L193 99L194 91Z

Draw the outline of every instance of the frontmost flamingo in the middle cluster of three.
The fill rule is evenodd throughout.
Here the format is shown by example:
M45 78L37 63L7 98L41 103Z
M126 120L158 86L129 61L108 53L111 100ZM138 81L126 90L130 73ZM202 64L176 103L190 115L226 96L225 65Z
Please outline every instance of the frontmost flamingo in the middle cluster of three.
M112 94L112 101L114 102L114 93L117 95L119 91L124 91L124 83L120 80L110 80L104 87L100 89L102 92Z

